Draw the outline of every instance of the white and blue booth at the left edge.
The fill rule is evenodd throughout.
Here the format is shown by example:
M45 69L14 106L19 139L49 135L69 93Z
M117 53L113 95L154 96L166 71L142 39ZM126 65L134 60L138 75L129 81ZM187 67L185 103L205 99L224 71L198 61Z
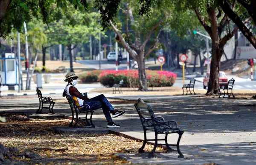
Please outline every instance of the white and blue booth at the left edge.
M19 83L18 65L14 53L5 53L5 57L0 57L0 74L2 85L8 85L9 89Z

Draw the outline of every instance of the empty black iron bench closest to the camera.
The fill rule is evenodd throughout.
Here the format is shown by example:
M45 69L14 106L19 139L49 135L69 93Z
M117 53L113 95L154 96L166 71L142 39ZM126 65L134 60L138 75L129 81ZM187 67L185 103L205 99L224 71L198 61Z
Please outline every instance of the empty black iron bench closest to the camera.
M144 152L144 147L147 141L154 141L154 148L148 154L148 157L154 157L154 152L156 150L157 145L165 145L167 148L167 152L172 152L172 148L170 146L176 146L177 151L180 158L183 158L183 154L180 152L180 139L184 131L180 130L177 126L177 122L174 120L165 121L163 117L157 117L154 115L153 108L145 103L142 99L139 98L138 102L134 104L140 121L143 126L144 131L144 141L142 147L139 149L139 153ZM155 139L147 139L147 131L154 131ZM167 142L168 134L177 133L179 134L177 144L169 144ZM158 139L157 134L165 134L164 139ZM165 141L165 144L158 144L158 141Z

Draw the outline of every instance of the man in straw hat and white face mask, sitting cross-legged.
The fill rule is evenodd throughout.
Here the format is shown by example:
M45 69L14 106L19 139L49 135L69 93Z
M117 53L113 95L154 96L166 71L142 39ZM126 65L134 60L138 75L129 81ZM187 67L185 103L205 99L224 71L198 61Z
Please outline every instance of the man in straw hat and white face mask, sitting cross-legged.
M69 72L66 75L66 79L64 81L67 82L67 86L64 89L63 97L66 95L71 96L76 104L84 105L87 104L90 106L90 109L99 109L102 108L103 113L108 121L107 127L114 128L114 127L120 127L119 124L116 124L112 121L111 115L113 117L118 117L125 113L125 111L118 111L113 108L111 103L108 101L108 99L103 95L98 95L94 98L88 99L86 96L83 96L77 89L74 87L77 84L77 78L76 74L74 72Z

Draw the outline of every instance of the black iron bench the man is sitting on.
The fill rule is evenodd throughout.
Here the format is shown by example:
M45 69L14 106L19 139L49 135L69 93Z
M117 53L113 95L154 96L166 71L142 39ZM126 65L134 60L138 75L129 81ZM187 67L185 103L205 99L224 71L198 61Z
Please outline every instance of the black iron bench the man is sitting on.
M72 112L72 120L69 124L69 127L73 126L73 128L76 128L76 125L77 125L78 121L85 120L86 127L95 128L95 126L92 122L92 116L93 116L94 111L92 109L90 109L90 106L87 105L87 104L84 104L82 106L77 106L74 99L71 96L66 95L66 98L67 98L67 101L70 105L70 109L71 109L71 112ZM89 112L90 112L90 119L87 118ZM76 114L76 117L74 117L74 114ZM85 117L79 117L80 114L85 114ZM73 125L74 120L76 120L76 123Z

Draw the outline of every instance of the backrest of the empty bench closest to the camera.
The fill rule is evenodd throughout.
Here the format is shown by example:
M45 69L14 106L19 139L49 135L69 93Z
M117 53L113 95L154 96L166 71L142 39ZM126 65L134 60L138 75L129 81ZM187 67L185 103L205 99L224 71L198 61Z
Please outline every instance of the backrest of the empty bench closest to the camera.
M154 112L152 107L140 98L134 106L139 114L143 128L146 129L147 127L153 127L152 117L154 118Z

